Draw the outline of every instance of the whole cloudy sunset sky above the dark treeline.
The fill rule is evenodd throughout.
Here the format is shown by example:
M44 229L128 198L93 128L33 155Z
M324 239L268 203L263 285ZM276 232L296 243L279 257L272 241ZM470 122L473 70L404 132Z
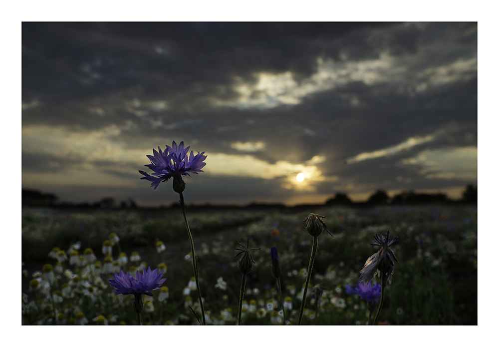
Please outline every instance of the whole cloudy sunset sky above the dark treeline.
M22 188L168 205L172 181L138 171L183 141L207 155L188 204L459 198L478 181L477 36L477 22L23 22Z

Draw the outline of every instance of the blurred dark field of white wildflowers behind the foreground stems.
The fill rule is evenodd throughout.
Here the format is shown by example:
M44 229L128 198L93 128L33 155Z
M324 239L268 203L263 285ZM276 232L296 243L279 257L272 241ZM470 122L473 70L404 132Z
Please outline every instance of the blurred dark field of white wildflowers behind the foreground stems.
M420 204L302 208L187 208L201 293L208 324L236 325L241 273L237 243L253 251L247 278L245 325L284 324L282 306L270 271L270 247L276 246L286 320L296 324L313 238L304 228L309 213L327 216L334 237L323 233L310 288L305 325L365 325L367 303L350 296L368 257L369 243L390 231L395 264L392 285L379 322L391 325L477 324L477 205ZM115 233L112 259L102 252ZM164 244L164 247L161 246ZM65 258L49 254L54 247ZM89 257L91 249L95 259ZM132 256L138 252L140 260ZM60 251L59 251L60 253ZM107 279L123 269L166 267L161 290L145 298L143 324L197 324L199 311L190 246L180 207L168 209L22 209L22 324L135 324L133 296L114 296ZM61 254L61 253L60 253ZM107 263L107 264L106 264ZM47 267L45 264L50 264ZM44 267L45 265L45 267ZM35 281L33 281L35 280ZM149 301L146 301L149 300Z

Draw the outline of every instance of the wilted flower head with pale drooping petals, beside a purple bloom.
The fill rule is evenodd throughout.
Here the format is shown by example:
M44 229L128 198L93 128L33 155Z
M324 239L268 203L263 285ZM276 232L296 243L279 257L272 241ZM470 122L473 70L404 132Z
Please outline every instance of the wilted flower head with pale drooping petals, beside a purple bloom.
M395 267L394 260L398 262L395 253L389 247L397 241L397 238L389 240L390 232L386 232L386 236L381 234L381 238L376 234L374 239L376 243L371 243L373 246L380 246L381 249L370 256L364 267L360 271L360 281L369 282L376 274L382 273L384 275L383 285L392 283L393 268Z

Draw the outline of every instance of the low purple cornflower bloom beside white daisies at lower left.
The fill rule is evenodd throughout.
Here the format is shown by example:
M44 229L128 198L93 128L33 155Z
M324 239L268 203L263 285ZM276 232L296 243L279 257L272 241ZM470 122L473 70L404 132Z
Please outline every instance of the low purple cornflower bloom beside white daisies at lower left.
M165 282L162 279L163 271L158 273L158 269L151 270L151 267L147 268L147 271L143 269L143 274L136 272L135 276L125 274L123 270L119 274L114 273L114 276L109 279L109 284L113 286L113 292L118 294L134 294L135 296L139 294L153 295L151 291L159 289L161 284Z

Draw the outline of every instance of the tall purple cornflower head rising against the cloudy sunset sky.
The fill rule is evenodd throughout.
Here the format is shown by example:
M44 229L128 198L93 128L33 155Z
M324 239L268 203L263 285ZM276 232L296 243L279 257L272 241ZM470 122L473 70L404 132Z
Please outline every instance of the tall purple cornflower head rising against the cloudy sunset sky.
M151 160L151 164L144 166L150 168L153 171L152 174L157 177L139 170L139 172L145 176L141 177L141 180L151 181L151 187L156 189L160 182L166 182L173 177L174 189L176 183L185 186L182 175L189 175L190 172L195 174L203 172L201 169L206 165L206 163L203 162L206 159L206 155L203 155L205 152L199 153L198 151L198 154L194 155L194 152L191 151L191 154L188 156L187 153L189 152L190 147L191 146L184 148L184 141L178 146L175 141L173 141L172 147L166 145L166 150L164 152L160 147L158 147L159 152L153 149L154 155L147 156ZM182 188L179 188L179 190L183 191ZM177 189L175 189L175 191L177 191Z

